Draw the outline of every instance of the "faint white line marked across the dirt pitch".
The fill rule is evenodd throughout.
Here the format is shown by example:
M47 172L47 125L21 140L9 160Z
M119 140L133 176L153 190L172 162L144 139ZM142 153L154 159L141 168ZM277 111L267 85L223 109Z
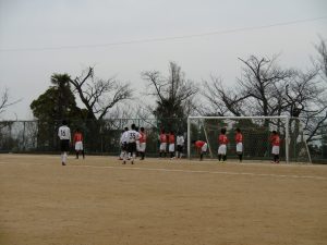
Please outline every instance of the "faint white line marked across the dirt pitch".
M69 168L93 168L93 169L118 169L118 170L145 170L145 171L161 171L161 172L182 172L182 173L210 173L226 175L250 175L250 176L274 176L274 177L290 177L290 179L313 179L327 180L324 176L311 175L287 175L274 173L246 173L246 172L228 172L228 171L207 171L207 170L181 170L181 169L162 169L162 168L138 168L138 167L113 167L113 166L68 166Z

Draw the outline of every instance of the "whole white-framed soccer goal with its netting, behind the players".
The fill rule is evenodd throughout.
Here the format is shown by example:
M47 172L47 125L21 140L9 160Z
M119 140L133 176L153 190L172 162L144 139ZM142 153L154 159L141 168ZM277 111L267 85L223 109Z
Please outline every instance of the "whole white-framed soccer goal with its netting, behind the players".
M187 157L196 156L192 146L194 140L204 140L208 145L207 158L217 158L220 130L227 130L229 143L227 158L237 159L235 130L243 135L244 160L271 160L271 132L280 137L280 160L291 162L311 162L308 148L303 135L301 122L289 117L189 117Z

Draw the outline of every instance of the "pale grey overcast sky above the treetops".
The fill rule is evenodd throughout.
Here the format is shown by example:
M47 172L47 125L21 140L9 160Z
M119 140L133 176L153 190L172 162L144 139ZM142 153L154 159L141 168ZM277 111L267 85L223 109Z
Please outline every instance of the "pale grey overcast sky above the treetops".
M0 118L32 119L51 74L75 77L89 65L135 89L145 88L142 71L167 74L169 61L186 78L219 75L227 86L240 75L238 57L280 53L281 65L305 70L326 30L326 0L0 0L0 91L22 99ZM206 33L217 34L122 44Z

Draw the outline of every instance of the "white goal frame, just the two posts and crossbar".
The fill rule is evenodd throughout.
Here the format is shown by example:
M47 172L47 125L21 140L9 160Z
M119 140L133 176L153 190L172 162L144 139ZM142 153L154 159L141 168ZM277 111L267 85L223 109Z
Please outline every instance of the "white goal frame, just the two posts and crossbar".
M283 119L286 122L286 132L284 132L284 150L286 150L286 162L290 162L289 156L289 144L290 144L290 132L289 132L289 124L290 124L290 117L288 115L274 115L274 117L189 117L187 118L187 158L191 159L191 119L222 119L222 120L235 120L235 119Z

